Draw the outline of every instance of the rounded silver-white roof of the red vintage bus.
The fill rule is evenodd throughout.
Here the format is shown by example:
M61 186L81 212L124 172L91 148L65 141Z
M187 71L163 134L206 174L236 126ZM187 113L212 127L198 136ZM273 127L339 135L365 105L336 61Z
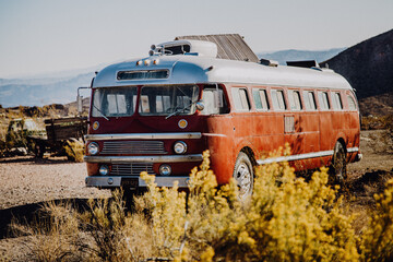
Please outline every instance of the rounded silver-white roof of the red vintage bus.
M119 73L132 76L119 78ZM203 83L352 90L342 75L329 69L269 67L254 62L202 57L198 53L151 56L116 63L96 75L93 87Z

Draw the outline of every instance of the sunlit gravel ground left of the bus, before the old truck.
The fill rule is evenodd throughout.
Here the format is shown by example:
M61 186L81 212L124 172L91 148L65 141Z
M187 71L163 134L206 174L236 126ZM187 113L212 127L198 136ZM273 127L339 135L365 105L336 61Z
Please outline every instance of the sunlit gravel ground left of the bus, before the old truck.
M86 188L84 163L66 157L0 159L0 210L56 199L108 196L107 190Z

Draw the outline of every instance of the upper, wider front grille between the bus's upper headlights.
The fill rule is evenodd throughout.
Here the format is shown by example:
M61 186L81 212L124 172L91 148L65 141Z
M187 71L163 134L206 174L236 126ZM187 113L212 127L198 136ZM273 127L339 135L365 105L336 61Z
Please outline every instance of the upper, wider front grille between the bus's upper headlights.
M163 141L106 141L102 154L166 154Z

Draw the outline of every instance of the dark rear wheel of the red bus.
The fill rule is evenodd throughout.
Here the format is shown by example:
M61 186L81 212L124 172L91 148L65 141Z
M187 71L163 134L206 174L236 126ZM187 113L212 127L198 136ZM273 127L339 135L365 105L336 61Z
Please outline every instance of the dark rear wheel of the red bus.
M346 179L346 152L341 142L334 146L332 165L330 167L331 180L333 183L343 183Z

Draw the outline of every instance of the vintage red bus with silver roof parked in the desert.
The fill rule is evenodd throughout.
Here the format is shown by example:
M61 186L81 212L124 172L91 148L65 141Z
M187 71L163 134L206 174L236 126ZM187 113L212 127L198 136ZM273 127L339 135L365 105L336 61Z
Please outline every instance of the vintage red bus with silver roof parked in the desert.
M218 183L252 192L257 165L331 166L342 180L359 160L354 90L330 69L217 59L217 45L174 40L148 57L103 69L92 82L86 186L138 189L141 171L159 187L188 186L210 150ZM291 155L265 158L288 143Z

